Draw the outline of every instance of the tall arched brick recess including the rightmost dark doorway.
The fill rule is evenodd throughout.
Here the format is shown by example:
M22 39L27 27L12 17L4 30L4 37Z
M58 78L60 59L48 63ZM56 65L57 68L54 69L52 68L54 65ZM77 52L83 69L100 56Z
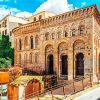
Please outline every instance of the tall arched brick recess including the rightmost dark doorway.
M84 75L84 58L85 58L85 41L77 39L73 43L73 59L74 59L74 73L77 75ZM82 66L80 66L80 64ZM81 69L80 69L81 68ZM81 71L80 71L81 70Z

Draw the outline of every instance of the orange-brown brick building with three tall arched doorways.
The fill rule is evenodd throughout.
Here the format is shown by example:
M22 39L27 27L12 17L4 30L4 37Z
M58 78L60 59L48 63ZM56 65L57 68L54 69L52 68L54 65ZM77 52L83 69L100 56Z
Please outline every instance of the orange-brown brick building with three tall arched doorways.
M76 9L13 30L14 64L43 68L73 79L100 68L100 14L96 5Z

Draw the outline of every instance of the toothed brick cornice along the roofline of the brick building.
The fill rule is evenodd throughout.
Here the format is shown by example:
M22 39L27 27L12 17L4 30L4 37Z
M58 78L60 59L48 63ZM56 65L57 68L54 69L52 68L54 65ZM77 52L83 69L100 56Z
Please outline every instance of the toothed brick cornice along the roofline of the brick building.
M78 18L84 18L90 15L94 15L95 12L98 12L97 6L96 5L92 5L92 6L88 6L85 8L81 8L81 9L75 9L73 11L69 11L63 14L59 14L50 18L46 18L46 19L42 19L40 21L36 21L36 22L32 22L32 23L28 23L28 24L24 24L20 27L17 27L15 29L13 29L13 33L17 32L20 34L24 33L25 31L28 32L28 30L35 30L36 28L44 28L44 27L49 27L52 25L56 25L56 24L60 24L63 22L67 22L69 20L75 20ZM20 31L20 32L19 32Z

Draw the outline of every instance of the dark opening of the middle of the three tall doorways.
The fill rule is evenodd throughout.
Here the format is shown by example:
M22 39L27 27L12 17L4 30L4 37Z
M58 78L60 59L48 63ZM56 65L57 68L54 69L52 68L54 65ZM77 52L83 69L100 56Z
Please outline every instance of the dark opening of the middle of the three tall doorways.
M67 55L61 56L61 73L62 75L68 75L68 57Z

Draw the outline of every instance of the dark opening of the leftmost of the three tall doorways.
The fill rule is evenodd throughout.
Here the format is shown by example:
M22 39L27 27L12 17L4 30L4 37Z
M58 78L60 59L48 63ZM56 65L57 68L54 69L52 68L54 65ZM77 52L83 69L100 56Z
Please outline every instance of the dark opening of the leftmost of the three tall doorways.
M54 62L53 62L53 55L50 54L48 56L48 74L54 73Z

